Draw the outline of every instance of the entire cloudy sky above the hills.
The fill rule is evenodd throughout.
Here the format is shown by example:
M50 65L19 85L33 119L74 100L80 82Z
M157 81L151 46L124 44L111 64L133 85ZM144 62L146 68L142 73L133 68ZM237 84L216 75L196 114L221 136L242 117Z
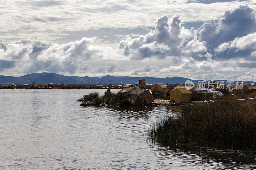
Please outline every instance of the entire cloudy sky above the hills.
M1 0L0 75L256 81L256 0Z

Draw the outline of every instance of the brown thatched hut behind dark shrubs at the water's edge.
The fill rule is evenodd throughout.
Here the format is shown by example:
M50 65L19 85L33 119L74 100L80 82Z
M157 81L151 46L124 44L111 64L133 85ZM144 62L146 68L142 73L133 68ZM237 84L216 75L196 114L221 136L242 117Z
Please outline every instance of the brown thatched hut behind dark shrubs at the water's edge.
M131 100L136 100L138 96L141 96L146 100L146 103L153 103L155 100L155 97L145 89L136 88L135 90L130 92L128 96L129 96L129 99Z

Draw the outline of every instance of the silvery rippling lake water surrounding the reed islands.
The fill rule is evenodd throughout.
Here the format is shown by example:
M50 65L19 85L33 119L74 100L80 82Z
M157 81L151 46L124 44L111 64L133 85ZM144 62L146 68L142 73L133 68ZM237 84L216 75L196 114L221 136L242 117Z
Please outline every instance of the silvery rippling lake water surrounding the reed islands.
M1 169L255 169L249 155L148 143L180 107L81 107L89 89L0 90Z

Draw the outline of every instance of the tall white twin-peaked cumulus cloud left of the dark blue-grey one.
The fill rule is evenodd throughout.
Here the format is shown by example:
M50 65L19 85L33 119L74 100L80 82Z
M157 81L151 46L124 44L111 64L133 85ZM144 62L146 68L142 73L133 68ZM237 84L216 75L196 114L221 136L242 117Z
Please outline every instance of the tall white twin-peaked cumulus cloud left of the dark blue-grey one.
M181 14L175 14L170 22L166 15L162 16L156 21L155 31L135 39L126 36L126 40L122 40L118 48L123 50L124 56L131 59L164 59L168 56L205 54L205 42L198 41L194 30L187 30L180 23Z

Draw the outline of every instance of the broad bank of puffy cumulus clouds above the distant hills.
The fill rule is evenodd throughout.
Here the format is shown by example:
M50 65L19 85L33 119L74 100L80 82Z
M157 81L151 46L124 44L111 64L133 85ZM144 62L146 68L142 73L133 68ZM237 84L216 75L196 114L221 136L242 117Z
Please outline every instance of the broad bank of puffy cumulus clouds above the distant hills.
M95 45L99 41L96 37L68 43L4 41L0 43L0 73L156 77L196 74L204 79L252 80L256 72L255 18L254 8L240 5L225 11L218 21L211 20L195 30L181 26L181 14L172 18L164 15L155 22L154 31L136 38L124 36L116 49ZM58 22L58 18L47 19ZM230 76L223 76L223 72Z

